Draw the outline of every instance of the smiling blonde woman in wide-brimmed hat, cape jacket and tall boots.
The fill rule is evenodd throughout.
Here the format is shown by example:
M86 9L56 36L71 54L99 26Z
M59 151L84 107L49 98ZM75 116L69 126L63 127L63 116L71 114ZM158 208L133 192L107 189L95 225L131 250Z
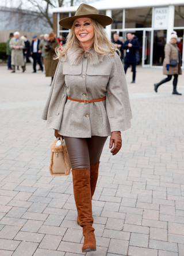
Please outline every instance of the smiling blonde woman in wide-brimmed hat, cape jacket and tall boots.
M131 126L131 106L124 69L103 27L112 18L81 4L75 16L60 20L71 29L62 51L42 118L66 141L72 165L78 224L85 236L82 251L95 251L91 199L99 159L110 137L112 155L121 149L121 131Z

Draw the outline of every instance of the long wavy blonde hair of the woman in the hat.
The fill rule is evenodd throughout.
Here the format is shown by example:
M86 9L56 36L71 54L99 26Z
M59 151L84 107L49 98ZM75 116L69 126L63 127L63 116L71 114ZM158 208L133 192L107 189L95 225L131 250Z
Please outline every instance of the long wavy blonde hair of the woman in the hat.
M115 52L117 51L119 55L121 55L120 50L109 41L108 37L106 36L105 29L99 24L97 21L91 18L91 24L94 28L94 50L99 55L109 55L114 56ZM71 27L71 31L68 33L67 42L64 46L56 48L56 56L54 59L59 59L60 62L65 62L67 59L66 52L70 49L75 42L79 42L77 37L75 36L75 22ZM62 57L65 57L64 61L62 61Z

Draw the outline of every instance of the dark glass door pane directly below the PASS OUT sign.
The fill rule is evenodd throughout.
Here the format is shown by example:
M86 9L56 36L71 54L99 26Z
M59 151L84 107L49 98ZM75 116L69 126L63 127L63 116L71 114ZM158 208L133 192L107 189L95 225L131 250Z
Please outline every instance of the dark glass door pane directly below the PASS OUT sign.
M167 30L155 30L154 31L154 53L153 53L153 65L162 66L164 59L164 46L167 39Z

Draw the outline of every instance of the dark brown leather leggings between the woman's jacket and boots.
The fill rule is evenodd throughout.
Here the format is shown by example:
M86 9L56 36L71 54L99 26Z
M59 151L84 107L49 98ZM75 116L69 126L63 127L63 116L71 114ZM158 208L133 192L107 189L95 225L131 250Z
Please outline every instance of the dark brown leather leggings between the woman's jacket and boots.
M90 168L99 162L108 137L72 138L64 136L72 170Z

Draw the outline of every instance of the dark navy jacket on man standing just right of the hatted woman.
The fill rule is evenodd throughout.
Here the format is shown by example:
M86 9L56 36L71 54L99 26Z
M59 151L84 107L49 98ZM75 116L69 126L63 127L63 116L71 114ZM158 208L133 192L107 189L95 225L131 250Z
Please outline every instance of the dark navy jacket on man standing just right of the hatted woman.
M132 47L128 47L128 44L131 43ZM125 61L127 63L136 63L136 50L139 50L140 46L137 40L132 39L131 42L127 40L122 46L125 50L129 50L125 56Z

